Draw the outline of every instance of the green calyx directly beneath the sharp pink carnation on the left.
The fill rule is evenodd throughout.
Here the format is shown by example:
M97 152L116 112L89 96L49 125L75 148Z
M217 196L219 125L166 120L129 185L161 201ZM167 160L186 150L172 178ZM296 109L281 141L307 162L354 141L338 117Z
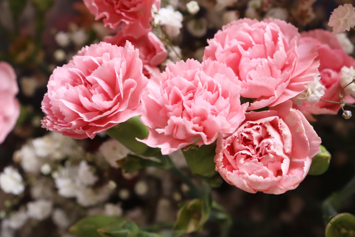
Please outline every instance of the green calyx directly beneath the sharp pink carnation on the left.
M154 156L160 152L160 149L149 147L136 140L136 138L144 139L149 135L147 127L141 123L139 118L140 116L132 117L107 130L106 133L137 155Z

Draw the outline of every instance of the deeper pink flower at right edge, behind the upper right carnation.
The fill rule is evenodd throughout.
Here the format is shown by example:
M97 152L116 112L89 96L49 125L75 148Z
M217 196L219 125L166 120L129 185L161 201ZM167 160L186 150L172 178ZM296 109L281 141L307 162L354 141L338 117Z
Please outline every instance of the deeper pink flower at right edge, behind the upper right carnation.
M302 32L301 42L316 44L318 50L316 59L320 60L318 68L321 74L320 82L325 86L325 94L321 99L339 102L339 93L342 90L339 83L340 69L343 66L355 66L354 58L344 52L336 36L323 29ZM355 102L351 96L346 96L345 100L348 103ZM339 104L324 101L319 101L312 105L305 102L302 106L295 107L304 113L309 120L313 120L311 114L337 114L340 109Z

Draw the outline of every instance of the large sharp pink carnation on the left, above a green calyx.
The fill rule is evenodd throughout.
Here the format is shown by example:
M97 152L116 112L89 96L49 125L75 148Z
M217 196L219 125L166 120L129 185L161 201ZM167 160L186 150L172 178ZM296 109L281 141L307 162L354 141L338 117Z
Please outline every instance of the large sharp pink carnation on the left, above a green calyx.
M140 114L148 83L138 50L101 42L84 47L53 71L44 95L42 127L76 139L94 138Z

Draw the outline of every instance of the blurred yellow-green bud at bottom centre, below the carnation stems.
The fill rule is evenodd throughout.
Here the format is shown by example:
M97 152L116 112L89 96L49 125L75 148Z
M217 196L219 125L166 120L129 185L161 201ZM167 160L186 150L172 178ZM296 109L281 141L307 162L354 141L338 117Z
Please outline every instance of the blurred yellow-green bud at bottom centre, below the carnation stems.
M204 199L193 199L184 203L178 211L173 230L179 233L192 233L202 230L211 212L211 203Z

